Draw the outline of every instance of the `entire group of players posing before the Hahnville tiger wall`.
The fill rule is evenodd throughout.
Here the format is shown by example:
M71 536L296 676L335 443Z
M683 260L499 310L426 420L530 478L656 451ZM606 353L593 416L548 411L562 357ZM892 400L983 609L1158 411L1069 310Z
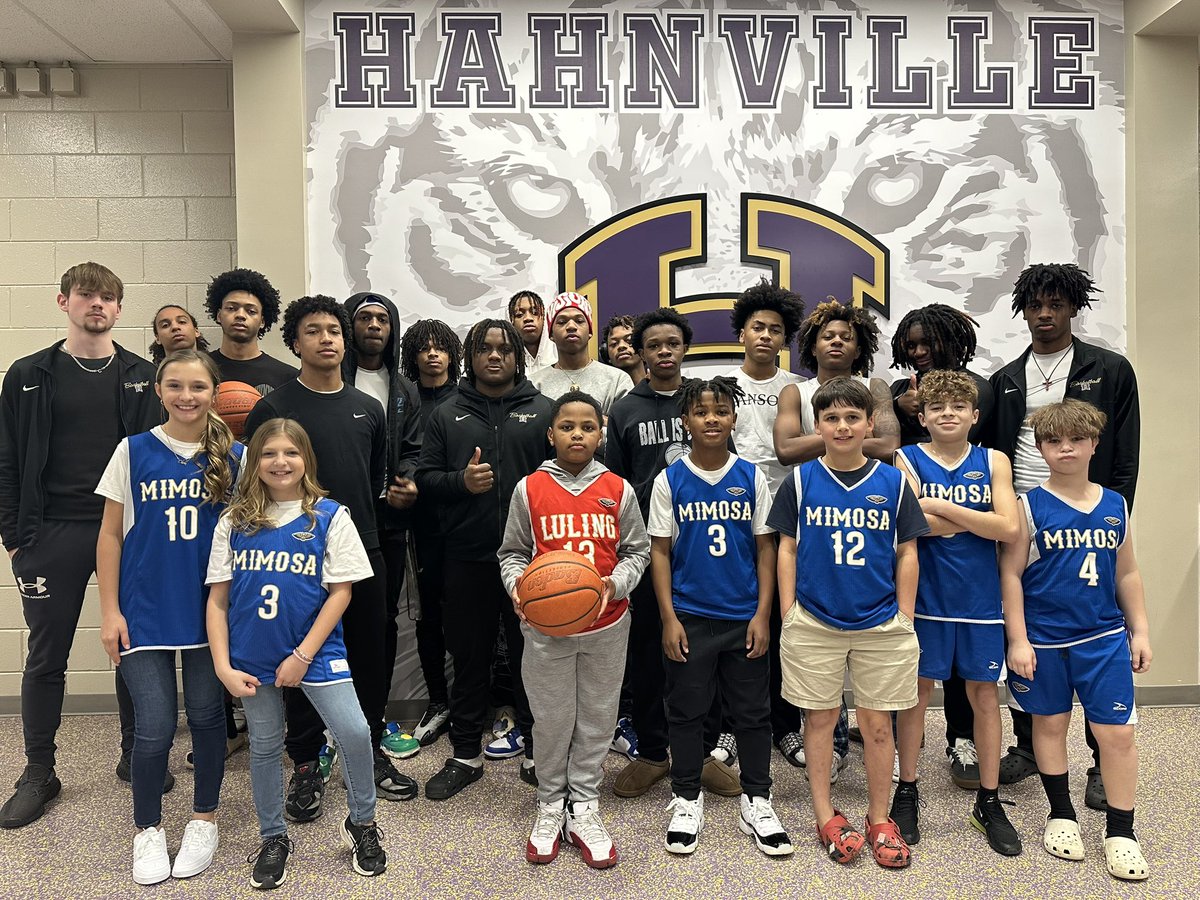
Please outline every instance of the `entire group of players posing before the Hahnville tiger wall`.
M29 626L28 764L0 826L37 820L61 790L54 738L95 572L138 883L212 863L224 761L245 743L234 703L259 820L256 888L284 883L286 820L322 815L335 761L352 866L383 874L377 799L420 792L394 761L445 732L431 800L482 778L485 756L524 757L529 863L563 842L592 868L617 863L599 803L611 749L630 757L618 797L670 776L667 851L696 851L709 791L739 798L737 826L760 851L791 854L774 744L805 769L830 859L869 848L904 868L920 840L935 682L952 778L976 791L970 822L1004 856L1022 845L1000 785L1033 774L1050 808L1045 850L1085 856L1067 774L1078 695L1108 871L1147 877L1133 829L1133 673L1151 662L1128 521L1136 382L1123 356L1073 334L1096 292L1078 266L1021 274L1013 311L1031 346L990 379L967 368L966 313L912 310L892 350L914 374L890 386L870 377L880 331L868 311L829 299L805 316L766 280L733 304L742 366L702 378L683 374L692 331L673 310L596 334L587 298L544 304L529 290L461 341L433 319L401 336L380 294L300 298L282 314L298 372L259 347L280 295L247 269L209 286L218 349L169 305L151 364L113 342L122 292L103 265L70 269L66 338L13 362L0 394L0 539ZM793 343L814 377L779 367ZM235 430L218 414L228 382L262 395ZM600 614L572 636L540 632L517 601L524 569L556 550L602 576ZM385 710L406 570L430 694L412 734ZM172 860L176 655L194 799ZM1003 677L1016 745L1001 758ZM500 683L515 721L485 749ZM832 799L856 738L862 828Z

